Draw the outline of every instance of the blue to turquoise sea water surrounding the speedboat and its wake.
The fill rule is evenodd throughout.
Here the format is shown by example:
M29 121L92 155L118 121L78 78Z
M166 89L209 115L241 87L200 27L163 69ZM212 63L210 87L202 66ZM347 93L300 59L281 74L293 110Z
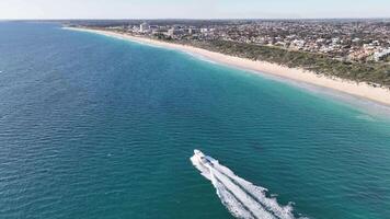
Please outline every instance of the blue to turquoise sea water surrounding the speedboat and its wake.
M390 218L390 122L182 53L0 23L0 218L231 218L193 149L295 203Z

